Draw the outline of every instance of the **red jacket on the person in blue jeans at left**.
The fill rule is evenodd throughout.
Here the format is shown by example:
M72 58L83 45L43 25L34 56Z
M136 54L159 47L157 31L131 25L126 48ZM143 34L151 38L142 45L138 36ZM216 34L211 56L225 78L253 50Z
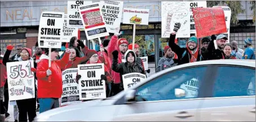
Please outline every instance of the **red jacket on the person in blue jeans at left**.
M60 98L62 95L62 72L61 67L68 63L69 54L65 53L60 60L51 61L51 82L48 81L46 71L48 69L48 59L46 55L41 55L37 65L38 98Z

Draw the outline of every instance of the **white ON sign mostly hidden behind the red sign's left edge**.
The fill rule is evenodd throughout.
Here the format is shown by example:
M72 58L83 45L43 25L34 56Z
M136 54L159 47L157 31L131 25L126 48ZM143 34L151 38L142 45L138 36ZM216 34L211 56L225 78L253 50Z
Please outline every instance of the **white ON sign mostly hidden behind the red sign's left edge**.
M189 5L189 15L190 15L190 34L196 34L195 20L193 17L193 8L207 8L206 1L186 1Z

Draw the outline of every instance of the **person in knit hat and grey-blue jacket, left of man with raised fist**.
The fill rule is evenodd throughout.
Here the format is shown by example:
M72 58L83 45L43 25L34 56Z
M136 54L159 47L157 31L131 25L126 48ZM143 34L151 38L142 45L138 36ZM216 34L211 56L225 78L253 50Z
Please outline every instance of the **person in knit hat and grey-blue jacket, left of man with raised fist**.
M179 60L174 59L174 52L171 50L170 46L165 46L164 50L165 56L159 60L156 72L178 65Z

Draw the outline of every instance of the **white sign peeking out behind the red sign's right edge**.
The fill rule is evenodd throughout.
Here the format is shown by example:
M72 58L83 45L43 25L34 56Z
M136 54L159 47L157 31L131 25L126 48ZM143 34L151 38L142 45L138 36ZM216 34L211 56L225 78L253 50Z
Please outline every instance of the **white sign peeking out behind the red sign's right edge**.
M228 37L227 43L229 43L231 9L228 6L214 6L214 7L222 7L223 8L224 16L225 16L225 21L226 21L227 32L224 32L222 34L224 34L224 35L226 35Z

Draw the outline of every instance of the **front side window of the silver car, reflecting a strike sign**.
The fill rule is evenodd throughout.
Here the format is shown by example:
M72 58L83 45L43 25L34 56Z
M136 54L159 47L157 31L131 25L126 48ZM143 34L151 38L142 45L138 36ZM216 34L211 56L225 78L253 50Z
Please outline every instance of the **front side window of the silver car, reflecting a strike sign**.
M135 101L197 98L207 67L180 69L159 76L137 88Z

